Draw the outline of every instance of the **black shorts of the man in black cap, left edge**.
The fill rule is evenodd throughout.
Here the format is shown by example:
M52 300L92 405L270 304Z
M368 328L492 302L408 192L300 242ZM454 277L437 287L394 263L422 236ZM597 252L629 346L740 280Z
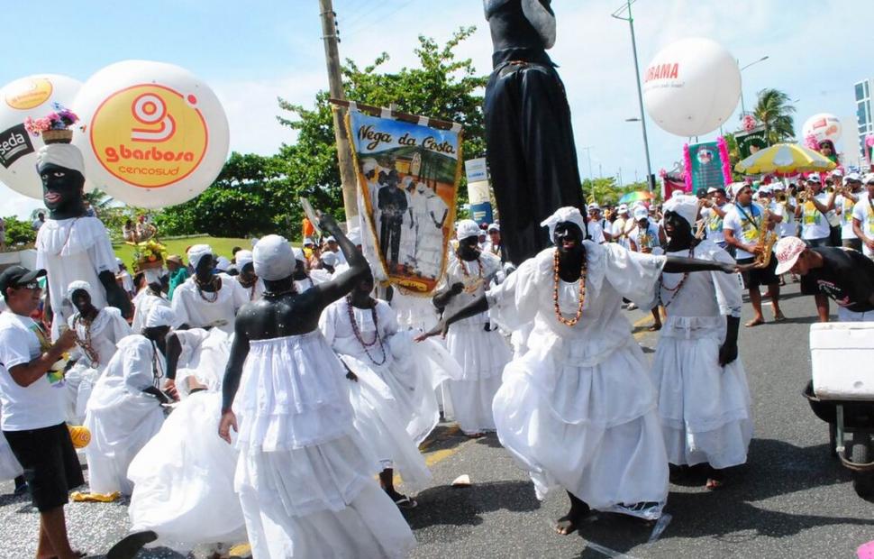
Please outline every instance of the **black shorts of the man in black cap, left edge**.
M66 505L69 491L85 483L66 424L3 435L22 464L31 502L41 512Z

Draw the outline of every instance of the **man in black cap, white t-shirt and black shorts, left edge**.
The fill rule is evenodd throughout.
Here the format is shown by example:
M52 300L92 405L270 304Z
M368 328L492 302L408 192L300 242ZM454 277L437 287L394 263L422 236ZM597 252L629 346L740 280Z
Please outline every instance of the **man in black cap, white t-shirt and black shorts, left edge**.
M55 344L31 319L45 270L11 266L0 274L8 310L0 313L0 428L22 464L32 504L40 511L37 557L77 557L69 545L64 505L85 480L64 424L63 373L50 371L76 343L67 330Z

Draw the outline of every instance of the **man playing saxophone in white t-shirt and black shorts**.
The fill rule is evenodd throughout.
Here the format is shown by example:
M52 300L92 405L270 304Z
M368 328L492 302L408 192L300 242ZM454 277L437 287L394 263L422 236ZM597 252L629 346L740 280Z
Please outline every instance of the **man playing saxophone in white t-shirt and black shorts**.
M733 246L736 260L742 270L743 285L750 294L750 303L754 316L745 324L746 327L764 324L765 317L761 313L760 286L768 286L771 308L774 311L774 321L784 320L780 310L780 286L774 270L777 269L777 259L770 259L767 268L753 268L756 255L763 248L758 245L762 227L773 229L783 221L782 215L766 215L764 207L752 202L752 188L744 185L734 198L734 206L729 209L723 222L725 243Z

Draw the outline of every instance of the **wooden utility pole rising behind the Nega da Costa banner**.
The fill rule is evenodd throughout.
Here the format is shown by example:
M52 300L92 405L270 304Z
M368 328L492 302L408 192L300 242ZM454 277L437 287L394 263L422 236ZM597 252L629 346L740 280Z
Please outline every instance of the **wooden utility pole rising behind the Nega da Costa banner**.
M324 42L324 60L328 66L328 89L334 99L345 100L343 80L340 73L340 42L337 28L337 14L333 11L331 0L319 0L320 16L322 17L322 41ZM346 225L356 226L353 220L358 217L358 175L352 161L352 151L349 136L346 133L346 108L332 107L333 133L337 142L337 162L340 164L340 180L343 188L343 209L346 211Z

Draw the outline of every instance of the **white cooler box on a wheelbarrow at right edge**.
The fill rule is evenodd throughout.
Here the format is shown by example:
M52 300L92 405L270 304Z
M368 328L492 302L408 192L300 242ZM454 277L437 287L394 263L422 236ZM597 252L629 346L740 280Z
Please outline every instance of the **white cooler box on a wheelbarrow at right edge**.
M874 399L874 322L810 325L814 393L820 399Z

